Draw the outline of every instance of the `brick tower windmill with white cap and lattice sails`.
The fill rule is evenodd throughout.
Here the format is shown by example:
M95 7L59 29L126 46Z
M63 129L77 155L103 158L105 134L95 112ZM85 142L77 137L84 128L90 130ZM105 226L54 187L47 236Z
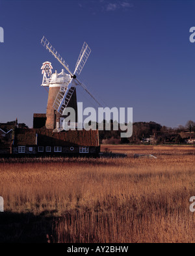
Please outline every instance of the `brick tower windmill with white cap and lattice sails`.
M62 127L61 123L64 119L64 110L66 107L73 107L76 113L77 119L77 96L76 96L76 87L81 86L85 92L87 92L93 100L101 106L98 100L93 96L93 94L86 88L84 83L81 83L77 78L76 74L81 74L83 67L90 55L90 48L86 42L83 44L83 48L81 49L81 53L79 54L79 58L77 63L75 64L74 72L70 71L68 64L62 59L60 54L53 48L50 42L45 38L45 36L41 40L41 44L59 61L60 64L66 69L68 74L62 72L59 74L57 70L52 74L52 66L49 61L45 61L42 64L42 74L43 81L42 86L49 87L49 95L47 100L47 113L46 113L46 124L45 127L48 129L58 130ZM77 122L77 120L76 120Z

